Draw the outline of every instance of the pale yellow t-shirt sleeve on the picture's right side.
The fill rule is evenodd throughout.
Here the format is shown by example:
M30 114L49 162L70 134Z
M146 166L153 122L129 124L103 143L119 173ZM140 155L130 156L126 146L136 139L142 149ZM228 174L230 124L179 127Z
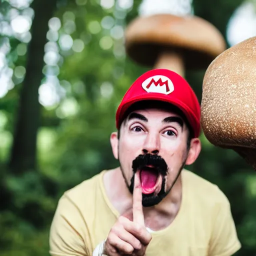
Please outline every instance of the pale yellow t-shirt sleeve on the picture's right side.
M230 203L223 194L223 200L218 204L213 222L209 256L231 256L239 250L240 247L241 244L237 237Z

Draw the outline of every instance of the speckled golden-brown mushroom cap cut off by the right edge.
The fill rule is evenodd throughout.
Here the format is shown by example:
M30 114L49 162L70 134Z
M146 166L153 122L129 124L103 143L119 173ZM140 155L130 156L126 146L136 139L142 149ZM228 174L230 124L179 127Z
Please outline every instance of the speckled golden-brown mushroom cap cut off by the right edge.
M214 145L256 148L256 37L226 49L208 66L201 125Z

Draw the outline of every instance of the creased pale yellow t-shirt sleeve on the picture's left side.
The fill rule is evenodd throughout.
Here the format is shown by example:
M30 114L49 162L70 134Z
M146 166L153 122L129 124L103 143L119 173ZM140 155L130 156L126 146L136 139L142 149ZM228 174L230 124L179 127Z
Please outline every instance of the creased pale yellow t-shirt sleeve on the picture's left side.
M78 207L65 194L59 199L49 232L51 256L89 256L88 235Z

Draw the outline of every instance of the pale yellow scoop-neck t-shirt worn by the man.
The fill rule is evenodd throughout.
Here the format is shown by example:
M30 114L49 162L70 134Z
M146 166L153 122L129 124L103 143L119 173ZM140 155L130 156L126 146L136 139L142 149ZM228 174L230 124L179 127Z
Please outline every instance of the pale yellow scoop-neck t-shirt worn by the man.
M50 228L50 254L91 256L118 212L106 196L103 173L66 191ZM240 247L229 201L220 189L182 170L182 201L166 228L152 232L146 256L230 256Z

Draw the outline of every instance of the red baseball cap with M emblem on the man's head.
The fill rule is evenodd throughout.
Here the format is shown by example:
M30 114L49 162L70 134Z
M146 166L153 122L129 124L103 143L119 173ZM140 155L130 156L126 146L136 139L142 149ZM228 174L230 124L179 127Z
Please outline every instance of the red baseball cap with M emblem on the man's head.
M169 69L152 69L140 75L124 94L115 115L119 128L126 110L141 100L168 102L178 107L186 116L193 137L200 133L200 104L187 83L179 74Z

